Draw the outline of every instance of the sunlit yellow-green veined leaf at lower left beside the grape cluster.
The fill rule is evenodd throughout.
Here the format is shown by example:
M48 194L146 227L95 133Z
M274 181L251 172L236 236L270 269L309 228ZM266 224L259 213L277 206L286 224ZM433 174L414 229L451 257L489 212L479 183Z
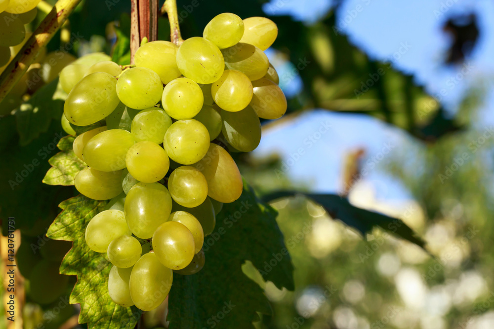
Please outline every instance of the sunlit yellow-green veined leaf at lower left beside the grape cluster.
M70 303L81 304L80 323L89 328L132 329L141 316L135 307L116 305L108 295L108 274L112 264L106 254L87 247L84 232L87 223L104 210L107 201L96 201L78 195L62 202L62 212L48 228L46 236L54 240L73 241L73 247L62 260L60 273L77 275Z

